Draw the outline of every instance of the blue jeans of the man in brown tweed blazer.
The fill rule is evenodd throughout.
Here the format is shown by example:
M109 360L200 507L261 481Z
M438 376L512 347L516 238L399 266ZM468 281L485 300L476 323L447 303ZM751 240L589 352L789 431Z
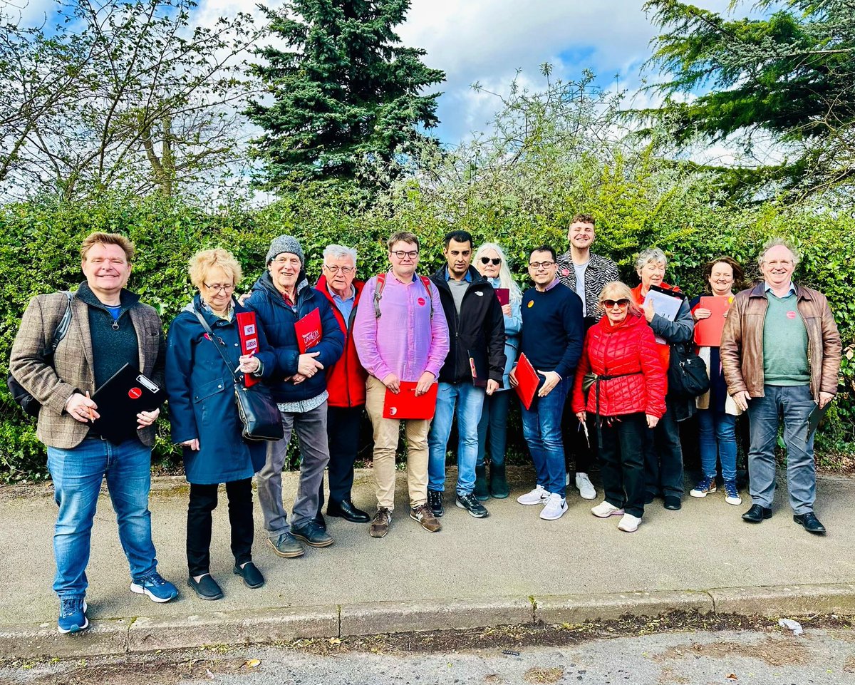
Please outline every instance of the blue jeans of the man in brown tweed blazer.
M59 506L54 527L54 592L60 598L83 597L89 585L86 564L92 520L104 476L133 582L156 570L149 511L149 447L136 438L119 445L87 438L70 450L48 447L48 469L54 483L54 500Z

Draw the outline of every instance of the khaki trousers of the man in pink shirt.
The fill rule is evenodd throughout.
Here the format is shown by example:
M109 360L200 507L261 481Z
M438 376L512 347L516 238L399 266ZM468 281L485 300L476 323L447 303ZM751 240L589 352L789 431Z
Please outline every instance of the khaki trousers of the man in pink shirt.
M398 450L400 421L383 418L383 400L386 386L369 375L365 384L367 395L365 410L374 427L374 482L377 506L389 511L395 508L395 452ZM407 436L407 488L410 506L428 501L428 430L430 421L404 420Z

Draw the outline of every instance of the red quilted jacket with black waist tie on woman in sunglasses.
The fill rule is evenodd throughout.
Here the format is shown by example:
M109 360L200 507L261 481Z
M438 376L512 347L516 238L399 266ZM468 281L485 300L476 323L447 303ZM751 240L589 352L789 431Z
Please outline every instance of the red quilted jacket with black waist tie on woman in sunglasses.
M665 369L659 359L652 328L644 316L628 314L612 326L603 316L585 335L585 347L573 383L574 413L597 411L596 383L585 397L584 375L617 376L599 381L599 415L621 416L643 412L665 413Z

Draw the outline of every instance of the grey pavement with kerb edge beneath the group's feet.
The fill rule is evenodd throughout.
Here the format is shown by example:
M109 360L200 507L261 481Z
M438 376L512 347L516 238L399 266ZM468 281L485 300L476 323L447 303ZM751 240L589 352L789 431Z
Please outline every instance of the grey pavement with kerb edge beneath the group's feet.
M357 472L354 503L373 513L370 470ZM449 483L455 474L450 469ZM656 500L634 534L616 517L590 514L596 504L569 489L569 511L557 522L516 496L532 487L530 469L511 469L509 499L486 502L476 520L446 492L443 530L429 534L410 520L405 478L386 538L368 526L327 518L335 544L307 548L302 558L274 555L257 510L254 560L267 584L245 588L232 573L225 493L215 511L211 572L225 599L205 602L186 586L187 488L159 479L150 509L159 570L180 590L168 604L129 592L109 498L99 502L92 531L86 596L93 629L56 635L57 601L51 534L56 505L50 487L0 489L0 653L121 653L245 641L334 637L377 632L504 623L575 623L623 613L670 609L769 615L855 613L855 480L821 478L817 516L828 535L793 523L779 479L775 516L758 525L740 520L746 504L722 493L686 497L681 511ZM284 478L286 504L297 475ZM453 487L452 487L453 489ZM688 490L688 487L687 487Z

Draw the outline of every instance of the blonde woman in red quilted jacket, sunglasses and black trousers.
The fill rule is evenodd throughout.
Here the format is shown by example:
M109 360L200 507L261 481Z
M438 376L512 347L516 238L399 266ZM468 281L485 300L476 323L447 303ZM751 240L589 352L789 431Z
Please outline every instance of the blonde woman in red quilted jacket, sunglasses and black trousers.
M585 336L576 369L573 410L583 423L597 417L604 501L595 517L622 516L618 528L633 533L644 514L646 433L665 413L665 369L656 340L632 291L619 281L599 296L603 316ZM586 375L596 375L587 391Z

